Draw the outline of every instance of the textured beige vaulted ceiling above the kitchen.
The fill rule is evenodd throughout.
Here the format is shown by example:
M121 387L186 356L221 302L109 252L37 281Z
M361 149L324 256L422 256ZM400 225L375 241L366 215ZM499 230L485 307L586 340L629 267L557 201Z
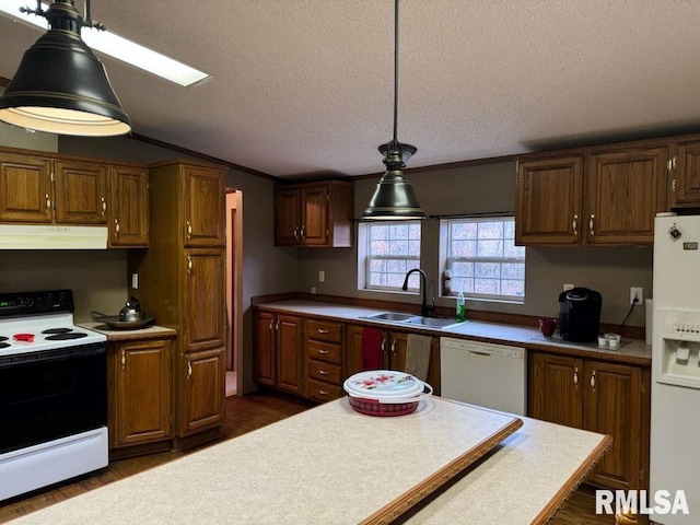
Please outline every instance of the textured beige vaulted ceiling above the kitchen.
M700 129L697 0L400 5L408 167ZM93 0L92 14L212 75L180 88L101 57L136 133L280 177L383 170L393 0ZM38 36L0 16L0 77Z

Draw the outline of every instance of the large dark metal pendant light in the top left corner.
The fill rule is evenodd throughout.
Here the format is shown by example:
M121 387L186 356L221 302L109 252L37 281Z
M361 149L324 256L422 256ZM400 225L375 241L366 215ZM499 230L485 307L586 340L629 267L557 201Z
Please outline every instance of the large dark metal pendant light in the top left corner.
M44 11L21 8L48 21L48 31L22 57L0 97L0 120L37 131L86 137L125 135L131 121L115 95L105 68L81 37L83 27L104 30L85 20L73 0L56 0Z

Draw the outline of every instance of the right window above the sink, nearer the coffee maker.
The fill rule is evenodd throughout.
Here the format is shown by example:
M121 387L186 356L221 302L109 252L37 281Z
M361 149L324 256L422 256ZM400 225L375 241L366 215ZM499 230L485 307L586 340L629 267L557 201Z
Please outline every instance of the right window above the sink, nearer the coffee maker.
M525 247L515 246L513 218L455 219L442 221L441 230L446 230L446 295L462 290L474 299L523 301Z

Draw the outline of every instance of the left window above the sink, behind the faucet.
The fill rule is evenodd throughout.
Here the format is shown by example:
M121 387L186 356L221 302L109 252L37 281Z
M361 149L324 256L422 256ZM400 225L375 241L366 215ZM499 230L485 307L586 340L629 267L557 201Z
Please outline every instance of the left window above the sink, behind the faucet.
M406 272L420 267L420 221L360 224L359 267L364 268L360 288L400 290ZM408 288L417 291L419 287L418 273L412 273Z

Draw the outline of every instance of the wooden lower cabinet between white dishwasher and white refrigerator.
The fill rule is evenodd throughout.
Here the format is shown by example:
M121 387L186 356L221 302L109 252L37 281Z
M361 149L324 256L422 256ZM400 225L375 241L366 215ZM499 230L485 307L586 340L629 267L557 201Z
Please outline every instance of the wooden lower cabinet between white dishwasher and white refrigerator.
M529 417L612 438L588 482L648 487L648 368L530 351L528 388Z

